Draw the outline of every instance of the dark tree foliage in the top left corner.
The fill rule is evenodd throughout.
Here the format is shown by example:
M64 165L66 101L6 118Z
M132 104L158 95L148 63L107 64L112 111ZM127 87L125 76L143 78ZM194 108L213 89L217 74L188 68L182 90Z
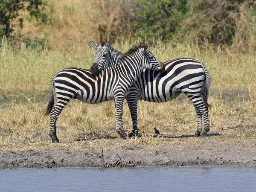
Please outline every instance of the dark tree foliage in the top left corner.
M22 28L24 17L21 11L27 11L26 18L31 21L46 23L47 14L44 9L47 4L43 0L0 0L0 37L12 38L14 27Z

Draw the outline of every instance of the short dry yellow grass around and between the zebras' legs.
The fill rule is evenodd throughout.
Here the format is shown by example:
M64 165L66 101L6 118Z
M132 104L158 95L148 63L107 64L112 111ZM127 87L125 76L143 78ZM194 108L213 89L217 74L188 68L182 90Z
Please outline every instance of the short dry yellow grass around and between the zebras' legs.
M49 117L44 116L46 103L28 102L18 105L12 103L8 105L8 108L0 110L0 127L7 131L1 134L0 145L6 150L52 147L79 150L87 147L99 149L129 144L151 148L163 145L192 144L205 140L217 139L227 142L255 137L256 108L251 105L250 101L236 101L231 104L216 97L210 97L209 100L212 104L209 113L212 137L190 137L196 131L195 110L192 103L181 96L166 104L139 102L138 123L143 135L141 138L96 139L82 142L76 142L76 139L80 133L86 132L118 137L114 129L106 130L108 126L114 127L114 104L111 101L100 105L90 105L73 100L61 113L57 122L57 134L62 142L60 145L52 144L51 140L41 139L46 137L49 131ZM124 127L131 131L131 117L127 104L124 108L123 123ZM155 137L154 127L160 130L163 137ZM43 137L36 137L38 132ZM188 138L180 137L183 135Z

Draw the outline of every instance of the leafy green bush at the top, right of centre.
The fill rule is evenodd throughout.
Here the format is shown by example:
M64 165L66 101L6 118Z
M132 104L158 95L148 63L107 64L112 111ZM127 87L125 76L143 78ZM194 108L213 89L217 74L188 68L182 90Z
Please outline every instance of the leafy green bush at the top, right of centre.
M132 9L135 36L172 39L188 11L187 0L141 0Z

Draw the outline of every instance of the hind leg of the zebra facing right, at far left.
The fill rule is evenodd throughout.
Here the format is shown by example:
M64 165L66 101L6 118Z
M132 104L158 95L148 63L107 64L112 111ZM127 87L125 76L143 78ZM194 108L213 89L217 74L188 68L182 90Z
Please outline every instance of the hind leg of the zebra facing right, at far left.
M52 143L59 143L57 134L56 134L56 121L58 119L59 114L63 110L63 108L67 105L65 102L57 102L55 107L50 112L50 131L49 136L52 138Z

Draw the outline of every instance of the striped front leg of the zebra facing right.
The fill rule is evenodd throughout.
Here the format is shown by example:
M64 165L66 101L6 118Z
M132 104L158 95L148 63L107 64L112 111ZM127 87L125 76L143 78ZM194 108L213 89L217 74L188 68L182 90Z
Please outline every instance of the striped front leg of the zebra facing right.
M122 139L127 139L127 134L122 125L122 110L123 110L124 97L115 98L115 116L116 116L116 132Z

